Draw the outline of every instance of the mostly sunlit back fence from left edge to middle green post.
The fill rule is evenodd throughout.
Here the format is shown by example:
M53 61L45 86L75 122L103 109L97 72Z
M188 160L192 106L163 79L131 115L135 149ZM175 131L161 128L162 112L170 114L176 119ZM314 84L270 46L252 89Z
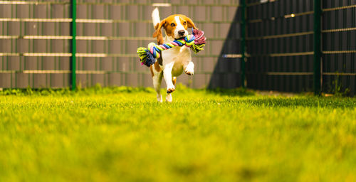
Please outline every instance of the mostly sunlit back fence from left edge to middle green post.
M205 51L193 56L194 76L183 75L178 82L190 87L239 86L234 82L236 58L221 58L239 49L238 0L77 0L77 85L152 85L150 70L140 65L136 49L155 41L153 4L159 6L161 18L191 17L208 37ZM0 87L70 86L70 7L70 0L0 1Z

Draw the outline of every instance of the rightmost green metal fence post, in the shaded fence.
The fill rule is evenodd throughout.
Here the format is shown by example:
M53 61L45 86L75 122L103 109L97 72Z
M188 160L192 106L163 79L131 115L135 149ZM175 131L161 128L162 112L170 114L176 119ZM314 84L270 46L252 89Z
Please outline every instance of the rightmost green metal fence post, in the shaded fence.
M314 94L320 95L321 87L321 3L314 0Z

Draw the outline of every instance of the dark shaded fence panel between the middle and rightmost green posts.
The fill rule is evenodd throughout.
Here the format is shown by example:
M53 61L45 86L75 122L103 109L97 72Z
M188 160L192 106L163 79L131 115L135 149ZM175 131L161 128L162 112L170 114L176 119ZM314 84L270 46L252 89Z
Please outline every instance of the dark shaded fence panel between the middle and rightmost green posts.
M247 86L313 90L313 1L248 1Z

